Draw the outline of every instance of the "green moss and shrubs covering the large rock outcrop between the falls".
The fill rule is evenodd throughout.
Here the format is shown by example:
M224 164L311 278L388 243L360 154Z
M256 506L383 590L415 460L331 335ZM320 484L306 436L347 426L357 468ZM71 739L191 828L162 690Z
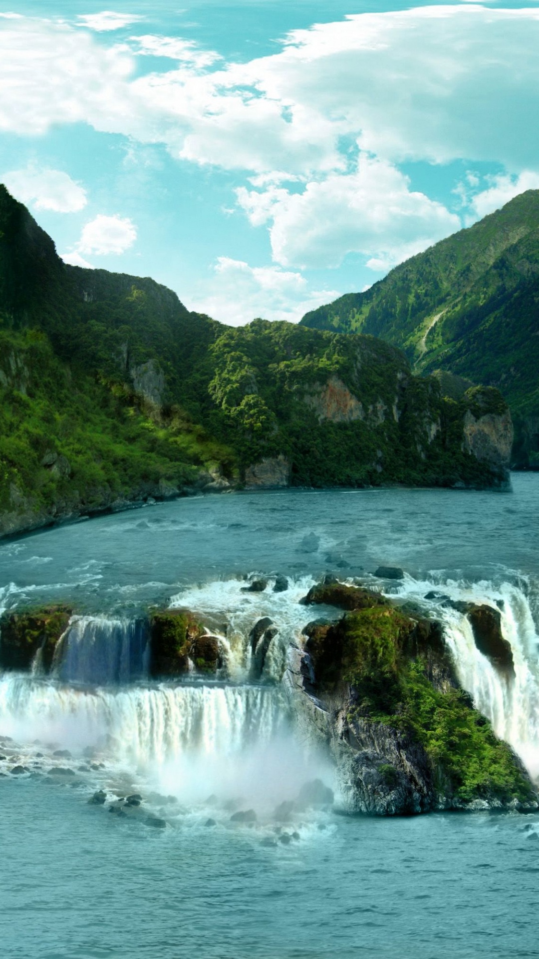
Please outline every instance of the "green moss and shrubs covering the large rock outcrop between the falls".
M398 609L372 606L348 613L307 646L322 686L352 687L350 718L384 723L421 743L435 777L450 785L457 800L530 799L530 784L510 748L467 693L449 685L436 689L429 680L429 641L417 643L418 630L425 632Z

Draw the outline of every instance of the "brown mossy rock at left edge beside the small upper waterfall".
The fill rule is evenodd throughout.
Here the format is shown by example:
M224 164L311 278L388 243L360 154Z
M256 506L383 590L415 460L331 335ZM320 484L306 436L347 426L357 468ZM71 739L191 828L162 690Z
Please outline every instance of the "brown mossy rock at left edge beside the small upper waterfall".
M41 650L41 666L50 672L55 650L73 610L68 606L41 606L5 613L0 620L0 666L28 671Z

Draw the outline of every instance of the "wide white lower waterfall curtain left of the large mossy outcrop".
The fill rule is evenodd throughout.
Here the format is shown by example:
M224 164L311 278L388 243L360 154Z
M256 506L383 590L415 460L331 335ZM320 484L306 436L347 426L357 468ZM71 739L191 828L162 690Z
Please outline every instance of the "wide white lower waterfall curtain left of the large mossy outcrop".
M73 749L101 747L115 760L163 763L195 750L230 757L283 733L289 720L271 687L160 685L78 690L30 676L0 677L0 728Z

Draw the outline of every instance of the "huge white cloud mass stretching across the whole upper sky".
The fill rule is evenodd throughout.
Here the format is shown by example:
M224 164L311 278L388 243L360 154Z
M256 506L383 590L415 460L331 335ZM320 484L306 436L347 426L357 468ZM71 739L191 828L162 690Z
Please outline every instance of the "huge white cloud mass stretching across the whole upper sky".
M133 17L79 22L103 31ZM293 32L271 56L217 68L181 38L129 43L106 46L59 21L0 19L0 129L38 135L82 122L254 175L241 202L251 222L268 223L285 266L337 264L353 250L386 269L456 229L443 206L410 190L397 170L404 160L502 164L506 182L470 194L473 216L539 168L536 8L353 14ZM176 69L137 74L137 57L151 54L177 59ZM370 156L369 169L350 169L342 137Z

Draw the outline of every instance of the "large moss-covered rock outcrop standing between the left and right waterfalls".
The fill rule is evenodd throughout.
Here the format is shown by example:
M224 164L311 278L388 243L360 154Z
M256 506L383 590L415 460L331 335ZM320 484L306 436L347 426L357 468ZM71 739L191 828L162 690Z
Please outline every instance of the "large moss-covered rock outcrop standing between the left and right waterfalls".
M337 761L348 812L538 807L522 762L459 687L437 621L331 580L304 602L347 611L305 627L291 676L300 717ZM497 611L463 612L478 647L506 675L512 661Z

